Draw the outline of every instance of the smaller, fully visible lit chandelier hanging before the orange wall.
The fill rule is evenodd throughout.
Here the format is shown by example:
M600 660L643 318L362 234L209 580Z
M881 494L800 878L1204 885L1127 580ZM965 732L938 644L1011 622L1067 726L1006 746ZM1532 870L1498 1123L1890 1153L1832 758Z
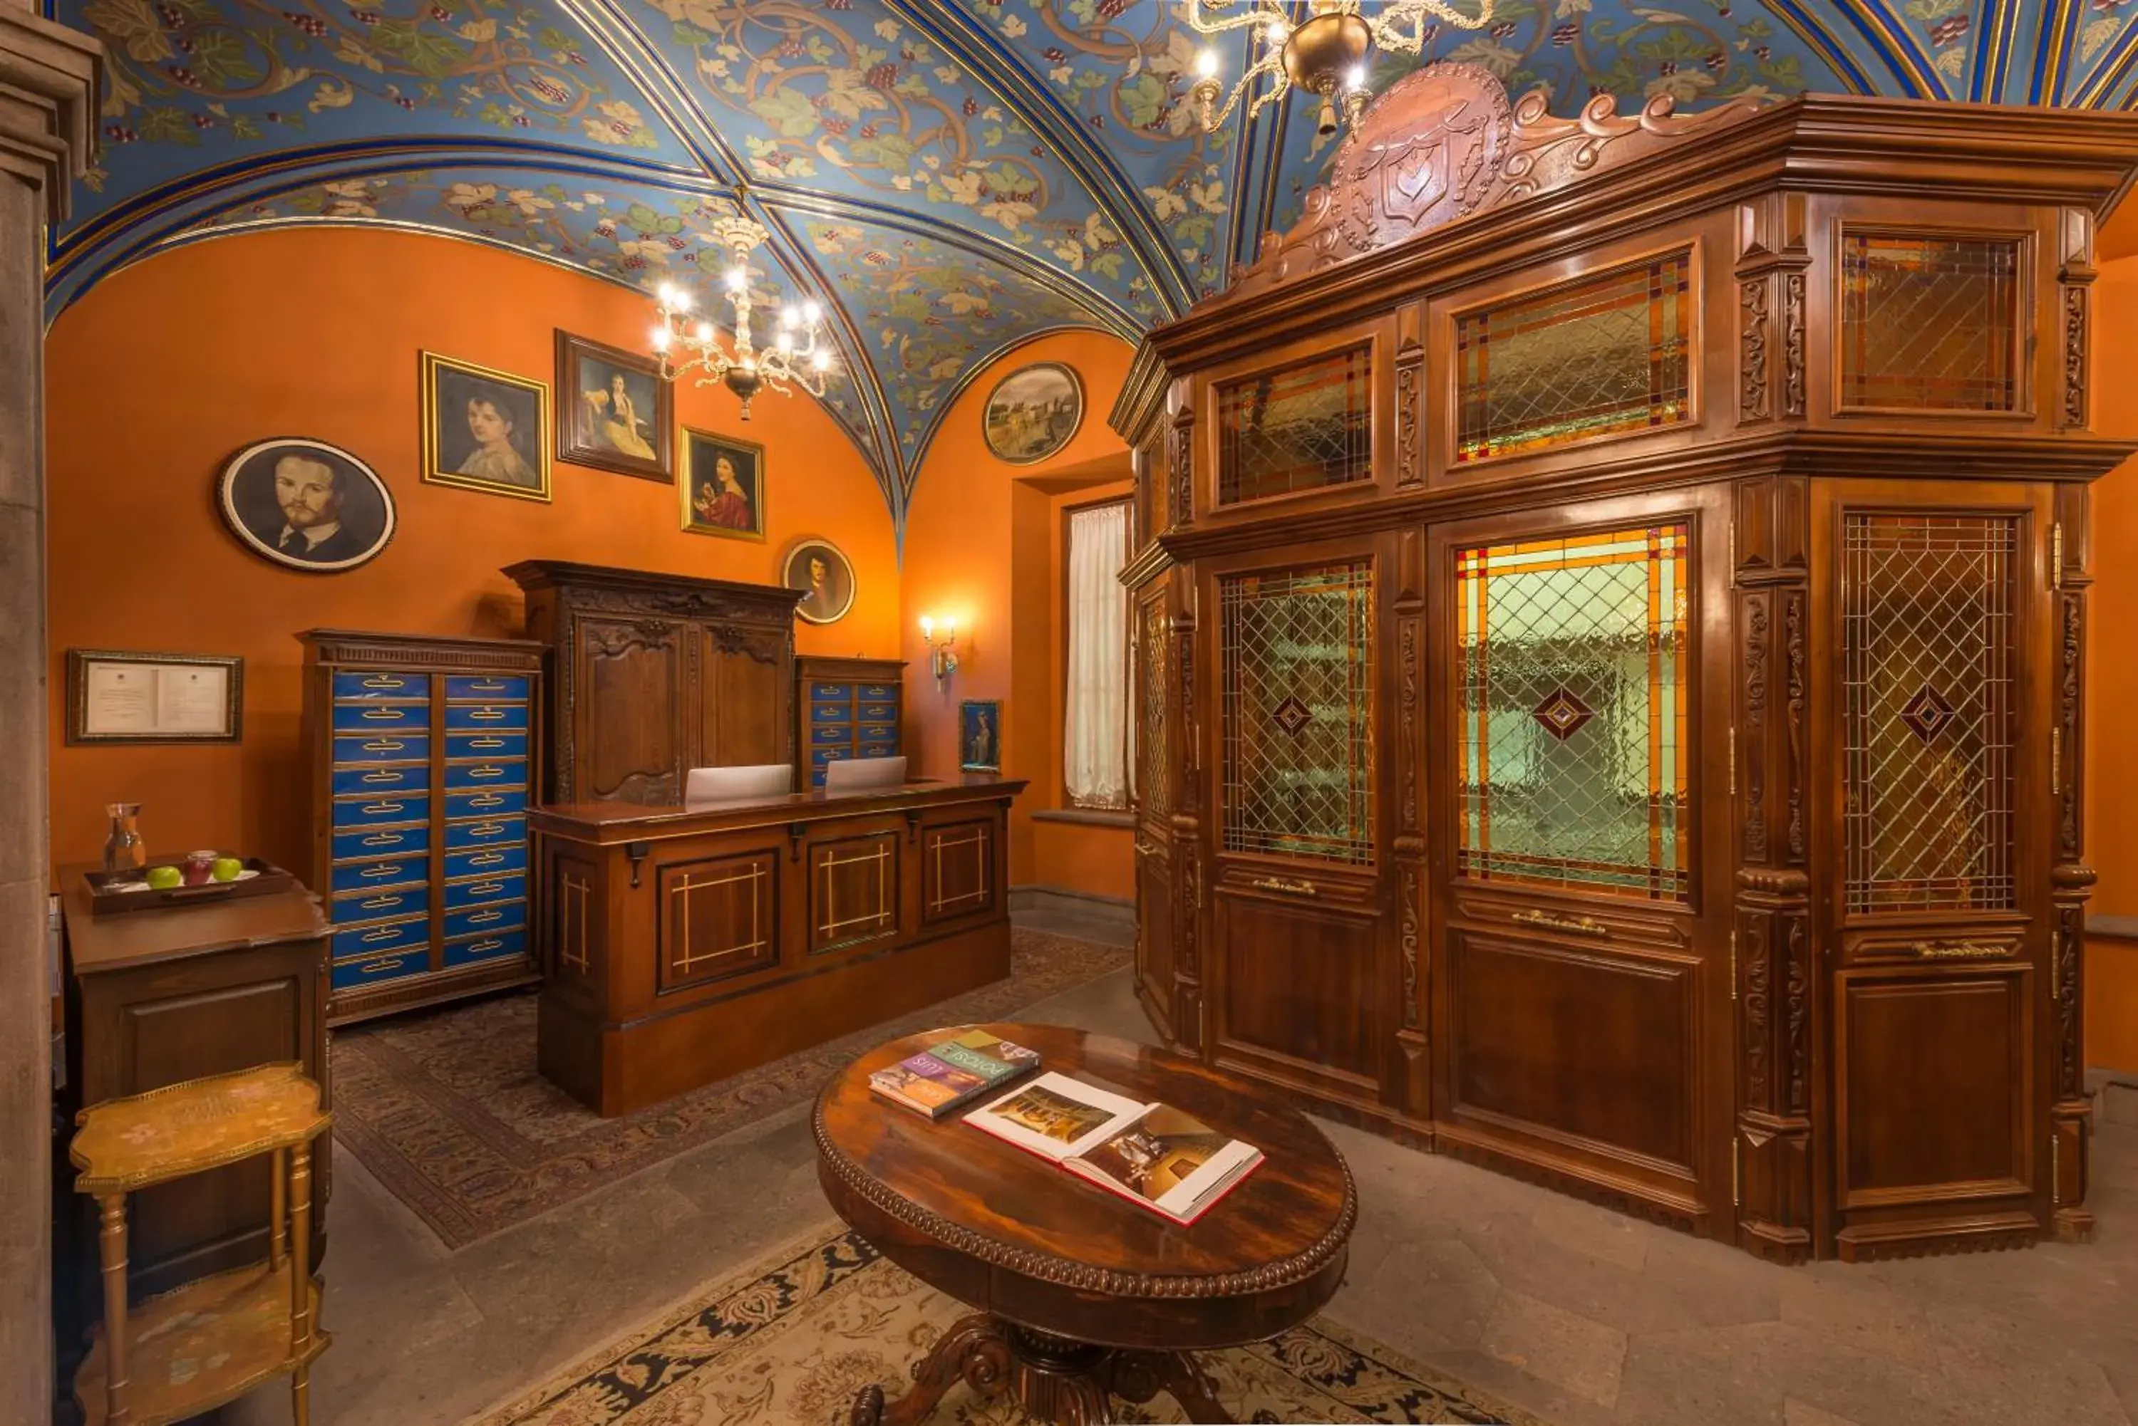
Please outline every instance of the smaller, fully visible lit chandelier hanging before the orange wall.
M686 289L663 282L659 291L661 319L652 331L661 376L701 372L697 385L714 381L727 385L742 398L744 421L750 419L750 398L763 387L772 387L780 396L793 396L791 387L823 396L823 378L832 370L830 344L819 344L823 340L823 306L817 299L804 301L800 308L780 304L772 346L757 346L750 336L750 252L763 246L765 227L742 214L729 214L712 222L712 237L729 254L723 286L729 306L735 308L733 348L723 342L721 329L710 316L693 316ZM671 361L671 353L678 351L688 355L682 361Z

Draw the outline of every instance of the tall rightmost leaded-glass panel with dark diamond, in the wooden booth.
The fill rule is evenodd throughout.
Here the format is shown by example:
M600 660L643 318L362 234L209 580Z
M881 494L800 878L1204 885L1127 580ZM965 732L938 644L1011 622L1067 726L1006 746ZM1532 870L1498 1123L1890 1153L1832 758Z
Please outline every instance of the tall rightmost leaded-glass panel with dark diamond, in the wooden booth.
M1847 909L2003 911L2018 520L1852 513L1841 560Z

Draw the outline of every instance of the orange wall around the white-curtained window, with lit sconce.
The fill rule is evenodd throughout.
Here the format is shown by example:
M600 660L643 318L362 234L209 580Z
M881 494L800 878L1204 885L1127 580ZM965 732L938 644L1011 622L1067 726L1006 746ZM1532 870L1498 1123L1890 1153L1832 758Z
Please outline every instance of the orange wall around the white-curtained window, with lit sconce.
M1005 774L1031 778L1009 819L1009 879L1097 896L1129 896L1129 830L1035 823L1060 806L1060 526L1063 485L1103 490L1129 470L1107 428L1131 348L1097 331L1018 346L981 370L943 417L921 462L904 541L907 748L924 776L958 772L958 703L1003 699ZM1031 361L1063 361L1084 383L1084 423L1050 460L1013 466L988 451L988 391ZM956 618L962 667L939 693L921 616ZM971 635L966 635L971 631Z

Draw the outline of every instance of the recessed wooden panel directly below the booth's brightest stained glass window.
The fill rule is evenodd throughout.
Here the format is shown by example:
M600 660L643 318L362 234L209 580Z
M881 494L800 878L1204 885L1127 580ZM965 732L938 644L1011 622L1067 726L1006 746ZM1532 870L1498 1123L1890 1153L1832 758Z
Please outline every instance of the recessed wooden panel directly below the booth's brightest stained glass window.
M1698 960L1450 930L1450 1112L1691 1172Z

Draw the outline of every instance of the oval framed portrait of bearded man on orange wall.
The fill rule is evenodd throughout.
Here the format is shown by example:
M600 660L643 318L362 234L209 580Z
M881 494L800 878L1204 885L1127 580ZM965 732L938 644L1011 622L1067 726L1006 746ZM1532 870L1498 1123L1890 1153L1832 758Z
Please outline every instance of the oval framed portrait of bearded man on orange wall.
M254 440L222 464L216 507L231 534L284 569L338 575L370 564L393 539L393 492L325 440Z

